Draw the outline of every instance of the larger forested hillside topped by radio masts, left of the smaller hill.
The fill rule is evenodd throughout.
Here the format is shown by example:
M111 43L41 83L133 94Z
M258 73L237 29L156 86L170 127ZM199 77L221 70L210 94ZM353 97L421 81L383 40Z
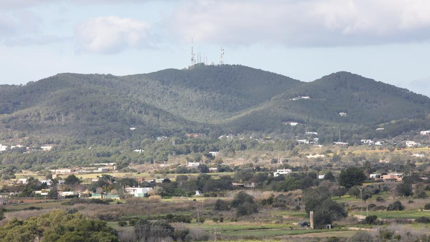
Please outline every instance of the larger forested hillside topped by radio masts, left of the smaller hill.
M0 140L35 136L108 141L219 130L220 120L300 81L246 66L194 66L149 74L58 74L0 87ZM129 128L137 129L131 132Z

